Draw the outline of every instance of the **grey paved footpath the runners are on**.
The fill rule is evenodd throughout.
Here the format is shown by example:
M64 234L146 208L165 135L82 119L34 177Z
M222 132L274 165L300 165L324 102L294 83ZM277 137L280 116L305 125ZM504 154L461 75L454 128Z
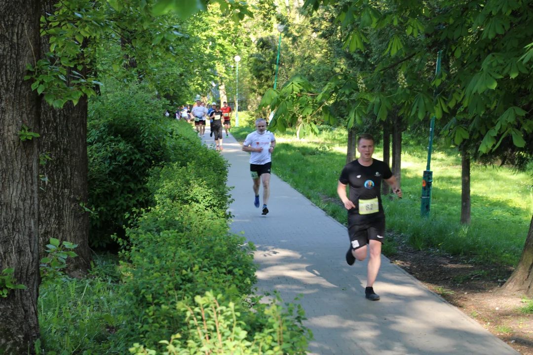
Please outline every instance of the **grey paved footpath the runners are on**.
M365 299L367 262L346 264L346 227L275 175L270 212L262 216L253 204L249 154L231 135L223 141L228 186L234 186L231 230L257 247L259 291L278 290L284 301L303 294L295 302L313 332L310 354L519 354L384 256L374 284L381 300ZM260 196L263 204L262 187Z

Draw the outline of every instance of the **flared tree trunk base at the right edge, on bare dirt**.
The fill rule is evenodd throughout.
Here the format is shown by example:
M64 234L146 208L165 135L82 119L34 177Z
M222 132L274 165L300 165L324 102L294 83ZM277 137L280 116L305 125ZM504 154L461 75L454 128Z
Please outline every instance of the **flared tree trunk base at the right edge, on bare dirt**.
M526 245L522 251L522 257L518 267L502 286L498 294L514 293L519 295L533 296L533 217L529 224L529 232Z

